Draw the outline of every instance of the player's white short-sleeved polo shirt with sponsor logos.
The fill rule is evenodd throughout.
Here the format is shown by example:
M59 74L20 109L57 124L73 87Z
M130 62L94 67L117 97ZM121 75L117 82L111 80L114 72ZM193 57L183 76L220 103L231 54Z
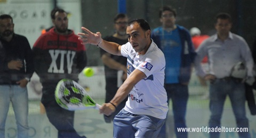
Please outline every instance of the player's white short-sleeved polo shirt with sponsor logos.
M132 114L149 115L165 119L168 111L164 89L165 58L152 40L145 55L138 55L130 42L122 45L121 54L127 57L127 76L135 69L145 73L129 93L124 109Z

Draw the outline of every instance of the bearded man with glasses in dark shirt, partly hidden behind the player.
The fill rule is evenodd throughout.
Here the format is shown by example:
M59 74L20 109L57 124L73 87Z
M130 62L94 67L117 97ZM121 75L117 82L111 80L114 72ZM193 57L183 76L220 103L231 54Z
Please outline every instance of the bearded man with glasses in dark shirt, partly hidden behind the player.
M116 42L119 45L126 44L128 38L126 36L128 18L126 14L119 13L114 18L115 33L112 36L103 38L106 41ZM101 59L104 64L105 80L106 80L106 99L108 103L116 94L119 86L125 81L127 77L126 61L127 58L123 56L116 56L107 53L105 50L100 49ZM103 115L105 122L110 123L115 115L123 109L126 100L122 101L117 107L116 111L110 115Z

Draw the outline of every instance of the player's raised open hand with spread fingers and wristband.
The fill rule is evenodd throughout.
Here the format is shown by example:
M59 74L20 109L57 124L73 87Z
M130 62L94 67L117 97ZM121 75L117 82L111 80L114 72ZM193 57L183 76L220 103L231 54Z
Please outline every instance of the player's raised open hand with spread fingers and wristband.
M78 39L83 41L82 42L83 45L85 44L99 45L100 42L102 41L100 32L93 33L85 27L82 27L82 30L85 31L86 33L79 32L78 36L80 37L78 37Z

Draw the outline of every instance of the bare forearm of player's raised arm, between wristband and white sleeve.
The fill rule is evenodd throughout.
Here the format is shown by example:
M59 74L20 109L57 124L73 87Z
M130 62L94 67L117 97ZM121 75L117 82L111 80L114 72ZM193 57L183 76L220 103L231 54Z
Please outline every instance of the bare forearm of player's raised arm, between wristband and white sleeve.
M115 42L109 42L102 39L98 46L110 54L121 56L121 52L119 50L120 45Z

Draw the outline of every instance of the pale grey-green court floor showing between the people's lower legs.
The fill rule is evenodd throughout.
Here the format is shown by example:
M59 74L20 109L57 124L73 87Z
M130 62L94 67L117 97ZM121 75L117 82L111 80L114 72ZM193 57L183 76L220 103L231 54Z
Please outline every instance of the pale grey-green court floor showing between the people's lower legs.
M102 103L102 99L95 99L95 101ZM49 123L45 114L40 113L38 100L29 101L29 126L30 137L57 137L57 130ZM199 130L201 127L206 127L209 119L210 111L208 108L209 100L202 99L199 96L190 96L187 109L187 126L194 127ZM256 137L256 116L250 115L247 110L247 117L250 122L250 132L252 137ZM169 136L175 137L173 133L173 119L172 110L170 108L169 120ZM236 127L235 117L231 109L229 100L226 100L225 109L223 111L221 126ZM98 110L87 109L76 111L75 114L75 128L81 135L89 138L112 137L113 124L105 123L103 115L100 115ZM15 137L17 128L15 124L13 110L10 106L9 115L6 121L6 137ZM189 137L208 137L207 132L190 132ZM234 132L223 132L221 137L238 137Z

